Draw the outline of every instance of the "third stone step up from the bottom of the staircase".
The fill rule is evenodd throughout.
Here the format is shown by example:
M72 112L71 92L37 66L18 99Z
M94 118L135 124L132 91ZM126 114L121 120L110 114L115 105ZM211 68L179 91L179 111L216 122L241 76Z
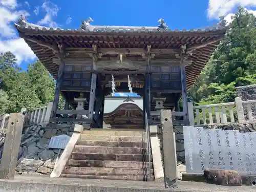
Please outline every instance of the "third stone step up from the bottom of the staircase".
M96 161L96 160L69 160L67 166L73 167L113 167L113 168L147 168L149 162L138 161ZM153 168L153 163L151 163Z

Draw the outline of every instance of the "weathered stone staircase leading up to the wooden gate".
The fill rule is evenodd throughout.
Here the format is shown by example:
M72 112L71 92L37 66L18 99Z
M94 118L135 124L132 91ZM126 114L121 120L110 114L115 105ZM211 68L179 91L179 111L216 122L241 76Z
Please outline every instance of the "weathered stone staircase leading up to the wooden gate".
M83 131L61 177L154 181L146 142L144 130Z

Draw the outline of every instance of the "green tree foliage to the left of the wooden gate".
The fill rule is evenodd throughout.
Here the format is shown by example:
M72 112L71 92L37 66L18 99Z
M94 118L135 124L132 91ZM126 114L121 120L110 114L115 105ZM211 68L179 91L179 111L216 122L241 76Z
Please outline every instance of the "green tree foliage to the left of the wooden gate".
M53 101L55 81L39 62L21 70L11 52L0 54L0 114L33 110ZM63 99L60 99L63 105Z

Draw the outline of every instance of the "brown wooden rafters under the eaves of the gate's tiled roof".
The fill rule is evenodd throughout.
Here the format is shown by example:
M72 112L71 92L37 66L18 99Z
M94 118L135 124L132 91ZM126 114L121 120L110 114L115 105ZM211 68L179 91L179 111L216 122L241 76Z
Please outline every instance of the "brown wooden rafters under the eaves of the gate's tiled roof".
M118 48L127 50L127 47L129 47L129 51L123 51L124 54L126 52L138 52L138 54L141 54L140 52L142 51L139 52L138 49L143 50L143 48L148 45L148 43L146 42L155 42L153 44L149 43L152 45L152 51L156 52L155 54L159 55L158 58L170 60L176 58L175 53L179 53L176 48L186 44L189 52L193 53L189 55L186 59L189 61L191 60L191 65L186 66L187 88L190 88L197 79L198 75L203 69L205 63L208 61L212 52L214 52L214 50L217 48L219 41L224 37L226 30L200 33L182 32L182 38L179 38L178 40L176 39L175 41L173 41L173 39L177 36L180 36L179 32L170 33L168 35L163 33L161 35L155 35L154 38L152 38L152 33L127 33L127 35L125 36L123 36L123 34L120 35L118 33L115 33L115 38L113 34L106 35L105 33L104 35L99 35L99 33L93 33L90 35L88 34L89 36L87 37L81 37L79 35L76 36L74 35L74 32L70 32L70 34L69 32L65 32L65 34L61 33L62 32L58 32L58 36L61 36L63 39L65 39L62 39L61 41L65 43L67 49L74 49L74 51L70 51L71 54L67 56L67 58L90 58L88 57L86 52L81 53L81 51L83 49L87 49L87 52L90 52L90 49L88 48L92 47L93 42L97 42L97 45L99 47L99 53L100 49L102 49L103 53L108 53L109 51L113 52L114 49ZM44 63L49 72L56 79L59 59L52 59L53 57L56 57L52 45L58 44L60 42L60 39L53 35L52 32L48 32L47 34L46 32L44 32L44 34L38 33L36 35L37 39L34 38L34 34L30 34L27 32L26 35L23 32L21 32L20 35L25 38L25 41L29 44L34 53L38 56L41 62ZM148 39L150 39L150 41L148 41ZM191 39L193 39L193 41L191 41ZM46 45L46 41L52 42L52 44L48 43L49 45ZM72 45L69 42L72 42ZM141 44L141 42L143 43ZM106 49L109 49L109 51ZM116 53L119 52L122 51L118 50ZM166 54L164 54L164 52L169 53L168 58L166 58ZM49 57L49 55L51 55L51 57ZM116 55L113 55L113 58L114 57L116 57Z

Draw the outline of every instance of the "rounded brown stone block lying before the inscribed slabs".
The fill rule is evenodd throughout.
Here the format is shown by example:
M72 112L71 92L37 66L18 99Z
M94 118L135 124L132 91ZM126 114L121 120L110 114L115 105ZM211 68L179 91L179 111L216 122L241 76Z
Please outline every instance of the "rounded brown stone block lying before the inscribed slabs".
M241 186L242 179L235 170L205 169L204 177L207 183L227 186Z

